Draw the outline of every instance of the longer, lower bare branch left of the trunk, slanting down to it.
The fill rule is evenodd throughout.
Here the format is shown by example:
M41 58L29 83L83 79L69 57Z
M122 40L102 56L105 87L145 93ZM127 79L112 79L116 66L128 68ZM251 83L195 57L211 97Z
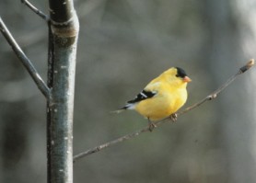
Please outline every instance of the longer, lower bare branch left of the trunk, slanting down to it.
M0 17L0 31L6 38L9 45L12 47L13 51L15 51L17 58L25 66L30 76L32 77L36 85L39 87L39 89L41 90L41 93L49 99L51 95L51 90L49 89L48 86L45 85L44 81L41 78L41 75L37 72L33 64L29 61L29 58L26 56L26 54L20 49L16 40L14 40L9 30L6 28L6 25L1 17Z

